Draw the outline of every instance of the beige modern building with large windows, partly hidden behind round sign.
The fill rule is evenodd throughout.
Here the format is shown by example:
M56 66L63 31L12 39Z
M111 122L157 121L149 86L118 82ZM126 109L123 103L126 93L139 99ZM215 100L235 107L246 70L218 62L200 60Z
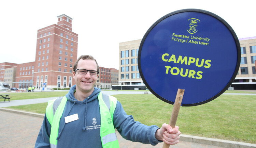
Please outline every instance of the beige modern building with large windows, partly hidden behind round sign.
M256 89L256 36L239 39L241 63L231 84L234 89ZM145 89L138 69L138 51L141 39L119 43L119 85L113 89ZM144 86L144 87L143 87Z

